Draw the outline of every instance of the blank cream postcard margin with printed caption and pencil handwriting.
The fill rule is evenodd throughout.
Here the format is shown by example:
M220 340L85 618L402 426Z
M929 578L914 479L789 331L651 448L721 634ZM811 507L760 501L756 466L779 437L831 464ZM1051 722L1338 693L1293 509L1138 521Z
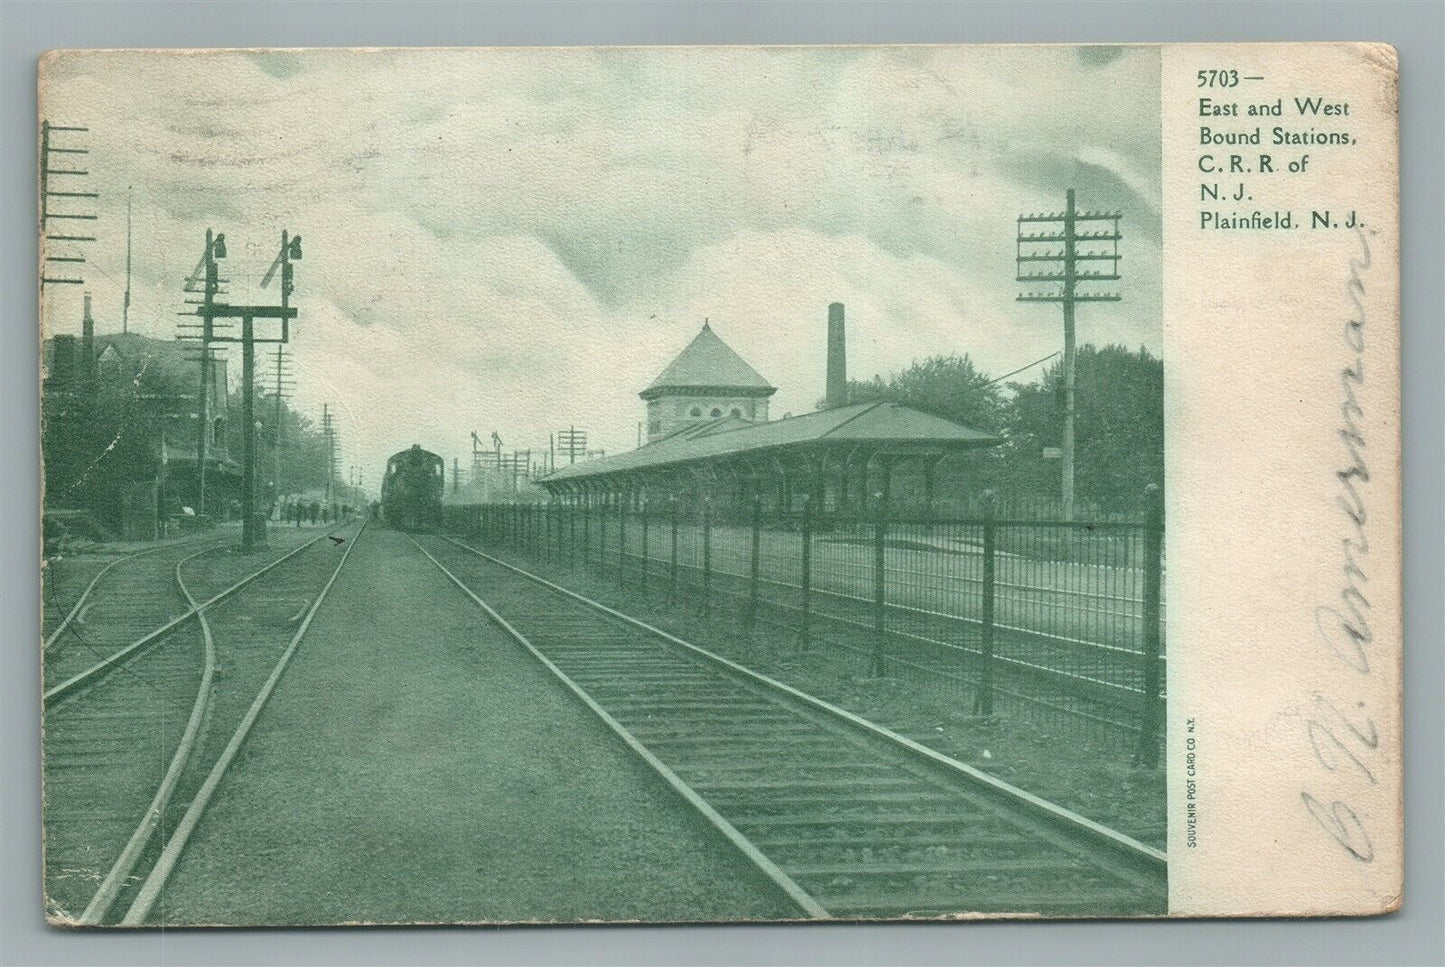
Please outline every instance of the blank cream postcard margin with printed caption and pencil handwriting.
M1170 915L1402 901L1396 66L1163 48Z

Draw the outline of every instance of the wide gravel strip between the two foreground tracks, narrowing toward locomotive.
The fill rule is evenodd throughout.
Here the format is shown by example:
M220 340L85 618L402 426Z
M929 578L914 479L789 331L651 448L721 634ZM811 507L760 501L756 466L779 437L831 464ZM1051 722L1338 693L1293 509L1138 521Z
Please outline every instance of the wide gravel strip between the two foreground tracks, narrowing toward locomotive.
M373 525L153 919L780 916L796 911L762 873L405 535Z

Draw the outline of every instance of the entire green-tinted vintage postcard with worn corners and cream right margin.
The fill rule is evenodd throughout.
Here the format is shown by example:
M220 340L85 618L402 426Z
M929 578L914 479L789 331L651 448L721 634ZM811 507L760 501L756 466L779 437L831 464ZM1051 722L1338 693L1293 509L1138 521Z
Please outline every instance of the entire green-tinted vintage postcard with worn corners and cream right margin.
M1396 85L45 55L46 918L1396 909Z

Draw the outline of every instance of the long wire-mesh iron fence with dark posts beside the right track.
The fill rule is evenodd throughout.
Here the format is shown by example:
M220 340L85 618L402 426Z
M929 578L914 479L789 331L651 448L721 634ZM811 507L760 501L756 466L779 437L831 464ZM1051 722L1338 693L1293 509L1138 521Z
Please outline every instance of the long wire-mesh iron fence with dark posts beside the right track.
M764 512L675 500L448 507L448 525L553 567L587 568L744 629L795 658L954 682L1001 705L1087 721L1157 759L1165 701L1163 517L1027 520Z

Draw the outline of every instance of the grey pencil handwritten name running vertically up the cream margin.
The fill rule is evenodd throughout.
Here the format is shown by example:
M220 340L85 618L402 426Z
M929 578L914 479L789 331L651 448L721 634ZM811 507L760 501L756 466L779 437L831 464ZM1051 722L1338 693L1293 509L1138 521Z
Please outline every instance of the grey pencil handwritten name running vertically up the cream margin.
M1319 642L1340 662L1358 675L1370 675L1370 645L1374 635L1370 629L1370 519L1367 496L1370 465L1366 461L1368 450L1361 422L1364 409L1360 405L1360 387L1366 383L1364 350L1367 314L1364 306L1364 276L1370 270L1370 241L1364 231L1357 230L1360 253L1350 259L1347 291L1353 306L1351 318L1344 325L1344 344L1348 350L1348 364L1340 370L1340 426L1337 434L1344 447L1344 464L1334 471L1338 493L1335 506L1344 516L1345 536L1340 539L1341 571L1344 581L1331 604L1315 609L1315 630ZM1348 702L1347 702L1348 704ZM1380 731L1366 713L1363 701L1353 702L1348 711L1324 695L1315 695L1314 717L1308 720L1306 734L1315 760L1329 773L1340 769L1355 770L1370 785L1377 782L1370 769L1368 757L1380 746ZM1311 792L1300 792L1305 809L1321 828L1350 856L1361 863L1374 860L1374 846L1364 822L1354 808L1341 799L1324 802Z

